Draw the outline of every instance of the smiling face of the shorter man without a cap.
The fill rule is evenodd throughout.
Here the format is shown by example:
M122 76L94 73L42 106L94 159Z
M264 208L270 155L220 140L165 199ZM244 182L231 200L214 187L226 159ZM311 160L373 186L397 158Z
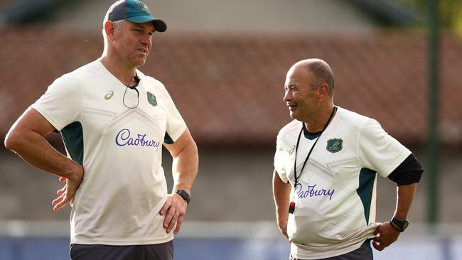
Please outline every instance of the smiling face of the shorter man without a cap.
M318 107L319 82L313 73L303 65L294 65L286 75L284 102L289 107L290 116L299 121L307 121L316 114Z

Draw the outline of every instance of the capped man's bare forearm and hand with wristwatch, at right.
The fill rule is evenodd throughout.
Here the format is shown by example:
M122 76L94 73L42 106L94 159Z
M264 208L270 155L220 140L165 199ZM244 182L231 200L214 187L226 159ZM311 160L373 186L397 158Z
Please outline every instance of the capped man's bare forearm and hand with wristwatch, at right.
M186 200L175 193L175 190L185 190L190 194L191 188L198 173L198 147L190 135L188 128L181 136L171 144L164 143L173 157L172 175L173 192L167 196L167 200L160 210L160 214L165 216L163 227L169 233L175 227L174 234L178 234L186 214L188 203Z

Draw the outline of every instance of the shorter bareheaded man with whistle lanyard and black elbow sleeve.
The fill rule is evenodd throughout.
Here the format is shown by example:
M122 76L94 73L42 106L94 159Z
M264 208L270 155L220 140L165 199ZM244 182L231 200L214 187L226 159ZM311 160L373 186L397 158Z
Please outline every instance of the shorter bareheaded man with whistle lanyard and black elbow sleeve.
M424 169L374 119L333 102L335 81L323 60L295 63L284 102L293 121L277 136L273 193L290 259L373 259L409 222ZM392 220L375 222L377 173L397 183Z

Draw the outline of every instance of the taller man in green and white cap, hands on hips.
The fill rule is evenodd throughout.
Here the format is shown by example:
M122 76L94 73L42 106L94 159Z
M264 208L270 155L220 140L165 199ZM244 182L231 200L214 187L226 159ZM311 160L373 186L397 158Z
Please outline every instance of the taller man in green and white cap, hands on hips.
M6 148L65 183L52 204L72 205L71 259L173 259L198 150L163 84L136 69L156 31L166 24L141 1L114 3L102 57L55 80L6 136ZM52 131L67 157L45 141ZM171 194L162 144L173 157Z

